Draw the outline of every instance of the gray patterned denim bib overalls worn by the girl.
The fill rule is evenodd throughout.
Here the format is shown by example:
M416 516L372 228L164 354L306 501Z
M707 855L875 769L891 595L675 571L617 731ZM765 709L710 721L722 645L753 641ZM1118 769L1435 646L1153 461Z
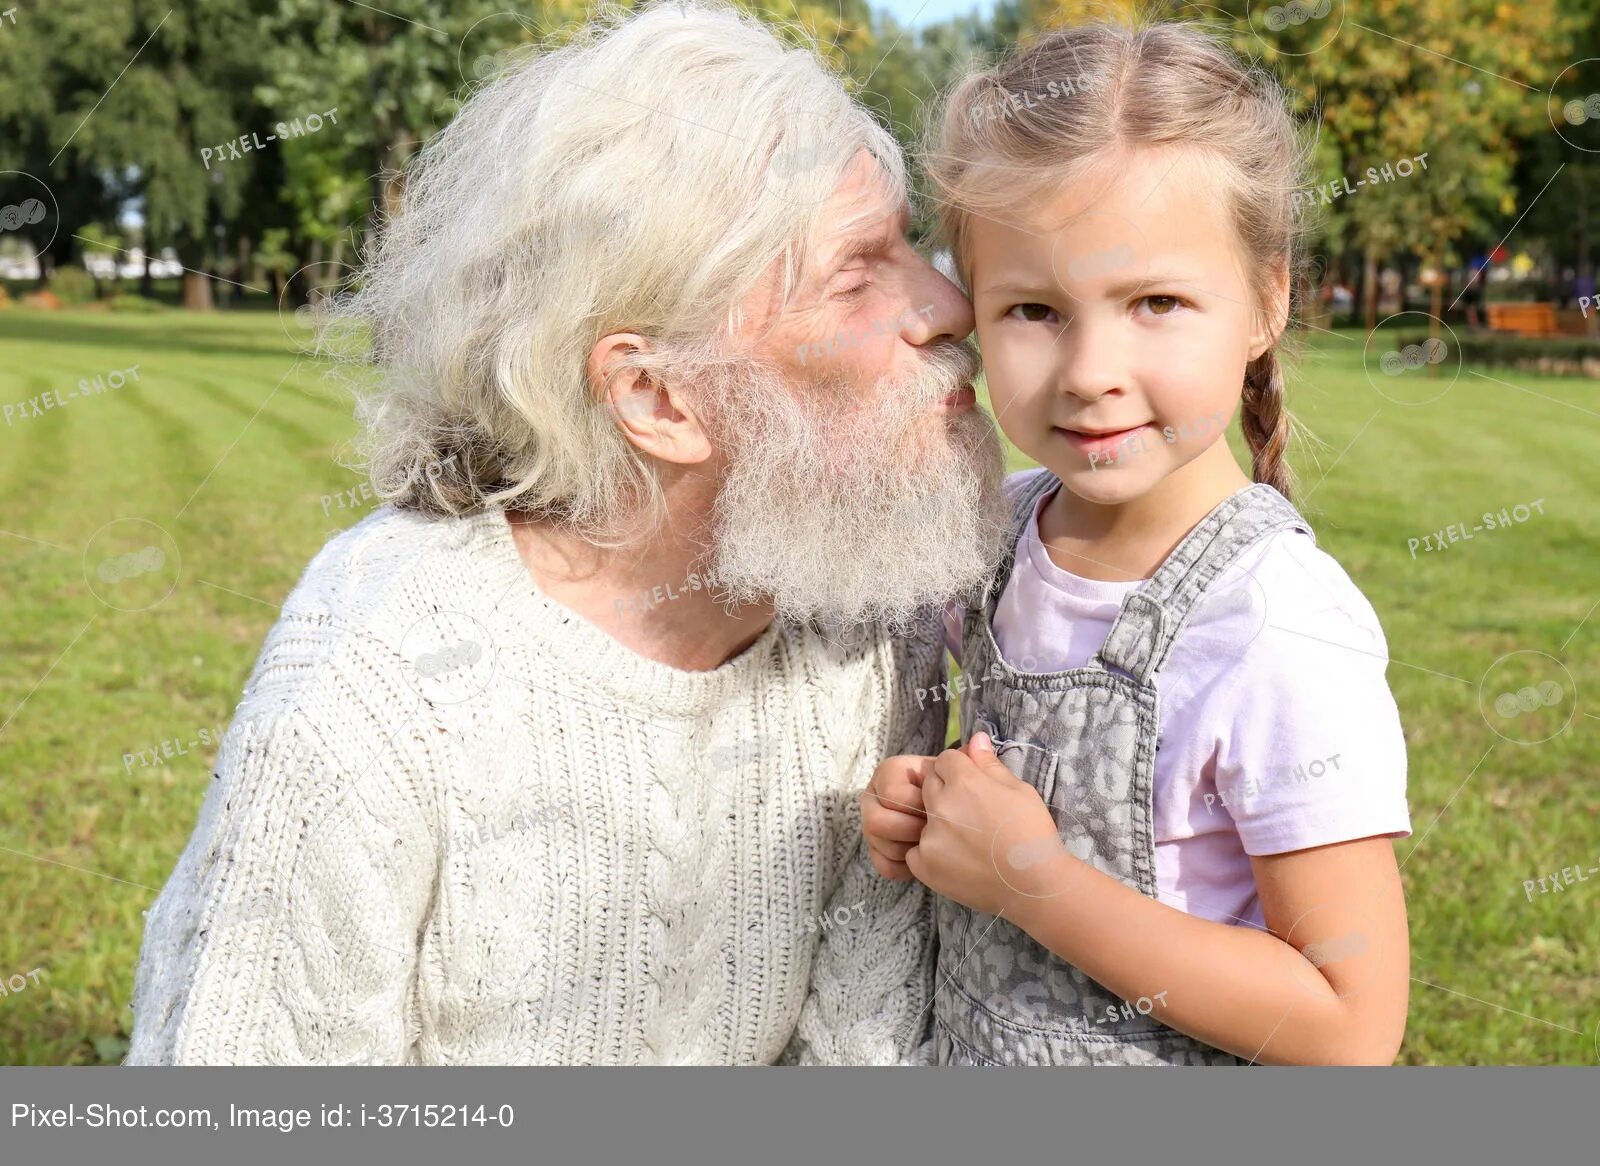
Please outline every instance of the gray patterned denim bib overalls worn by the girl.
M1018 672L1000 657L994 616L1034 504L1059 485L1040 473L1016 499L1006 553L962 629L962 739L989 733L1011 773L1038 790L1062 845L1155 897L1150 789L1160 713L1155 673L1211 582L1301 513L1254 485L1218 505L1141 587L1130 592L1099 653L1082 669ZM1123 1001L1008 920L936 900L941 1065L1238 1065Z

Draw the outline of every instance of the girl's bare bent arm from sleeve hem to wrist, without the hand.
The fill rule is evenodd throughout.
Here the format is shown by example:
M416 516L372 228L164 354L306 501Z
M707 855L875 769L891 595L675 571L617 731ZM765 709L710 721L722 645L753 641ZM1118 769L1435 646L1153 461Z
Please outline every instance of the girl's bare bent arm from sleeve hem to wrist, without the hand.
M1270 931L1189 915L1066 859L1062 894L1019 899L1006 918L1123 1000L1165 992L1157 1019L1251 1060L1394 1060L1410 948L1387 838L1253 859Z

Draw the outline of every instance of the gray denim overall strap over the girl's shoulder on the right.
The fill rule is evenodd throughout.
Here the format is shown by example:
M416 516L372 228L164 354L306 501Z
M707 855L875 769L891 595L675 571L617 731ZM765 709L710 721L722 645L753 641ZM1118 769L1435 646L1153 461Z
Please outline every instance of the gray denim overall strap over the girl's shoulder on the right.
M1282 529L1315 541L1310 523L1266 483L1227 497L1182 537L1155 574L1130 592L1096 661L1147 683L1162 665L1211 582L1251 545Z

